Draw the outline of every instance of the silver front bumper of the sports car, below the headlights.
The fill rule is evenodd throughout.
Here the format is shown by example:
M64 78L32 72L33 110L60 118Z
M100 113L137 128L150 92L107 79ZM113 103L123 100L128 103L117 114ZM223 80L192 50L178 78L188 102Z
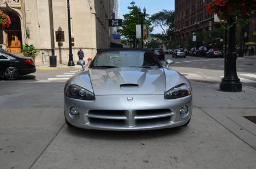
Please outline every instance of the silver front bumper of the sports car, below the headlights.
M132 97L131 102L127 97ZM188 113L180 116L180 108L187 105ZM79 109L72 115L71 107ZM166 100L163 95L96 96L86 101L64 98L67 121L76 127L98 130L151 130L184 125L192 114L192 95Z

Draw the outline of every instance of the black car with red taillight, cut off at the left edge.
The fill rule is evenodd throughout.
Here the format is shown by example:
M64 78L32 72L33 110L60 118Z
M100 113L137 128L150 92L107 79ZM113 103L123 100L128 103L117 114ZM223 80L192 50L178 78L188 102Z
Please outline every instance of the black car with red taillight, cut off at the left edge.
M36 67L32 58L0 51L0 78L15 80L21 75L34 73L35 71Z

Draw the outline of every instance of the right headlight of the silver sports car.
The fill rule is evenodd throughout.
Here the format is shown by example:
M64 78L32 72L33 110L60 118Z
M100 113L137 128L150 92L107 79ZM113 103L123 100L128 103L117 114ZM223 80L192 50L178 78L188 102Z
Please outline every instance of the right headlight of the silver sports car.
M164 99L177 99L191 95L191 87L187 84L179 84L164 93Z

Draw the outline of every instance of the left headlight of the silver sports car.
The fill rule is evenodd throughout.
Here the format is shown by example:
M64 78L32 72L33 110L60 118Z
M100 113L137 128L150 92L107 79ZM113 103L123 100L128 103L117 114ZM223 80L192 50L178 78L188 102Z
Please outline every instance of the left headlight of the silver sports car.
M68 86L67 90L65 91L65 95L69 98L74 99L82 99L82 100L94 100L95 96L93 92L86 90L80 86L76 86L75 84L71 84Z

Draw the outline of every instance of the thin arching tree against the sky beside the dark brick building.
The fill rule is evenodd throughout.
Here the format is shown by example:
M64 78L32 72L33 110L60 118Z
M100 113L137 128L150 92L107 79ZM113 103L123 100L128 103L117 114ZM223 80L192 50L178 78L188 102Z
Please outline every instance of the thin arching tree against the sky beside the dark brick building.
M151 15L150 22L152 23L153 28L162 28L163 33L159 38L167 48L172 48L172 40L174 39L174 11L162 10Z

